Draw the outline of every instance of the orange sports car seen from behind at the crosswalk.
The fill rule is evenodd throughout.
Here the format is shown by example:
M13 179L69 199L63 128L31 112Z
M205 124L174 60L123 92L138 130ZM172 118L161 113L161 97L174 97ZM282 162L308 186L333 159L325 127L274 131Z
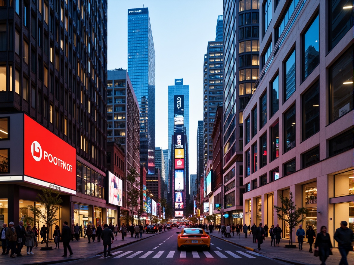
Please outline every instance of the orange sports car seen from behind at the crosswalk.
M182 247L203 247L210 250L210 236L201 228L184 228L177 232L177 249Z

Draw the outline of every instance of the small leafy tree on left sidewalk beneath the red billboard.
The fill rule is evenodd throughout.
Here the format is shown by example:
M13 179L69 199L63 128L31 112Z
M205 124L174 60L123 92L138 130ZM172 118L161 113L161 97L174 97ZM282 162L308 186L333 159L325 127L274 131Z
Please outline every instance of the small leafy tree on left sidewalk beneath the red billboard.
M33 213L36 219L43 221L47 226L47 241L44 249L48 248L48 238L50 227L59 221L57 218L60 204L63 202L60 192L51 188L42 188L42 194L37 194L36 201L41 204L41 207L27 205L28 209ZM39 228L39 227L38 227ZM43 249L43 248L42 248ZM51 249L51 247L50 247Z

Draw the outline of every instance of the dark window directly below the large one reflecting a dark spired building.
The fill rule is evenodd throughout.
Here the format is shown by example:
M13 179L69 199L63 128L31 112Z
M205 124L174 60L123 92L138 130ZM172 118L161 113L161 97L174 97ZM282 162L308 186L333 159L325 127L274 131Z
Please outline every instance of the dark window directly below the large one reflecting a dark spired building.
M320 129L319 84L314 84L302 96L302 138L306 140Z

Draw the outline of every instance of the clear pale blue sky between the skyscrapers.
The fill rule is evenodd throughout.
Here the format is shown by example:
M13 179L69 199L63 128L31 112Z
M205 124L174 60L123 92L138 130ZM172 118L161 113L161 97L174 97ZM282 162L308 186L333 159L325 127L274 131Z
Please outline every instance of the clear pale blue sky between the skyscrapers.
M108 0L108 69L128 68L127 9L149 8L156 55L156 147L168 149L168 86L183 78L190 93L190 174L196 174L196 133L203 119L203 63L215 40L222 0Z

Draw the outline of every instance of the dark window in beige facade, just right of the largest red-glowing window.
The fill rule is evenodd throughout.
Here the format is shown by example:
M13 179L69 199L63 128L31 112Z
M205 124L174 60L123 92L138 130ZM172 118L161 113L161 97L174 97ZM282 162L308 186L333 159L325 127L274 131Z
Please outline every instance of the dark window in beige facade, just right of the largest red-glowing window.
M285 152L296 145L296 107L295 104L284 114L284 150Z

